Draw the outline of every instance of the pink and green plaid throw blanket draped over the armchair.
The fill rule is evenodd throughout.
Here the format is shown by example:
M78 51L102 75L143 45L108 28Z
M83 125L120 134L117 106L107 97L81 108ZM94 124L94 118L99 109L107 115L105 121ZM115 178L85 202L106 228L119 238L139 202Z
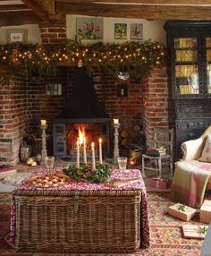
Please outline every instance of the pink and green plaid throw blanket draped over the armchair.
M197 160L175 163L171 200L199 208L204 200L211 164Z

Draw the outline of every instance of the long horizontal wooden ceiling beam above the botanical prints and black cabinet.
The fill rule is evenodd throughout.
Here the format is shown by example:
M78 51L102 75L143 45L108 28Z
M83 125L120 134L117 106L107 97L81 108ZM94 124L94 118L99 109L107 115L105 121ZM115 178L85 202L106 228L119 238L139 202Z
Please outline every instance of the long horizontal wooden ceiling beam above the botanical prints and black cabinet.
M57 13L157 20L211 20L211 7L57 3Z

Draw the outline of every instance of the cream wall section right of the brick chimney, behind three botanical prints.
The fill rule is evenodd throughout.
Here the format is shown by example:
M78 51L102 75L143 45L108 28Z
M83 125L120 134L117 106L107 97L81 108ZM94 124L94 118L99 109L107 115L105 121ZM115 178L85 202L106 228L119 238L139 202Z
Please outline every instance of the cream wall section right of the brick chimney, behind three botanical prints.
M76 34L76 17L85 17L85 16L76 16L76 15L67 15L66 16L66 28L67 28L67 37L75 38ZM127 39L114 39L114 23L127 23ZM123 19L123 18L104 18L104 43L122 43L124 41L130 40L130 26L131 23L142 23L143 24L143 40L152 39L153 41L158 41L160 43L166 44L166 34L164 24L165 21L155 20L147 21L142 19ZM92 43L93 41L88 41ZM94 41L95 42L95 41Z

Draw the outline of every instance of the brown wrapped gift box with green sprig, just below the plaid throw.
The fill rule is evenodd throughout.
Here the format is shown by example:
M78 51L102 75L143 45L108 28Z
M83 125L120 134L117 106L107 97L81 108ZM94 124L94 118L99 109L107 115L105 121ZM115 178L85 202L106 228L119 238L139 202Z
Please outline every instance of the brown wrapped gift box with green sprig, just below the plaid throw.
M168 208L168 213L173 217L180 218L184 221L189 221L197 213L197 209L185 206L185 210L182 211L180 207L183 206L181 203L173 204Z

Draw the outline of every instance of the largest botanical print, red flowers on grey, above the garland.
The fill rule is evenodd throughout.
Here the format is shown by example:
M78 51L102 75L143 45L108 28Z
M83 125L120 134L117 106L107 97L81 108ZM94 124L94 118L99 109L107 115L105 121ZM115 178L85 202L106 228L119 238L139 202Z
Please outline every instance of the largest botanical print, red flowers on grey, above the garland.
M102 18L77 18L77 38L79 40L98 40L103 38Z

